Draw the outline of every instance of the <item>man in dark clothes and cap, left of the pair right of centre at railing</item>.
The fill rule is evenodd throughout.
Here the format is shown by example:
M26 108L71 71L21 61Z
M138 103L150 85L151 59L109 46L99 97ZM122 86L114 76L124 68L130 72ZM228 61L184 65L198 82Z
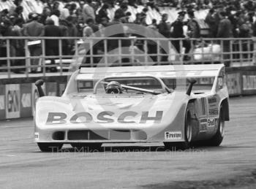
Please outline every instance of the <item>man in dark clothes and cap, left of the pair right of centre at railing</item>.
M184 18L185 18L186 12L181 11L178 12L178 18L177 20L175 20L171 27L173 27L173 33L172 33L172 37L173 38L185 38L184 35L184 30L183 30L183 26L184 26ZM188 41L188 39L183 39L181 40L183 47L185 47L185 55L184 55L184 61L189 61L189 56L187 55L187 53L189 53L189 50L191 48L190 42ZM180 40L173 40L172 41L173 46L176 48L178 53L181 53L181 47L180 47Z

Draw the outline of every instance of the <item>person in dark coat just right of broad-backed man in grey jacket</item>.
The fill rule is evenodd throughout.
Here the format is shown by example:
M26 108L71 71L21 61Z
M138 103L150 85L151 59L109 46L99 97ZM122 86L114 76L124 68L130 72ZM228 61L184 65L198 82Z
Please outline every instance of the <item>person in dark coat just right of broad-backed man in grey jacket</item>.
M56 38L62 36L59 26L55 26L53 20L48 18L45 26L45 36L55 36ZM45 39L45 55L59 55L59 40ZM54 58L50 58L50 63L55 64ZM57 72L56 67L51 67L50 72Z

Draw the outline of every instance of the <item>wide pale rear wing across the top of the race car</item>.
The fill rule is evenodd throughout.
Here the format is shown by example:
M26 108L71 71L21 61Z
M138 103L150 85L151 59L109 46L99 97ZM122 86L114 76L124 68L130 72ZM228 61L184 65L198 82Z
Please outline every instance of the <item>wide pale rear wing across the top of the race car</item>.
M204 78L217 77L224 64L124 66L81 68L76 80L98 80L102 77Z

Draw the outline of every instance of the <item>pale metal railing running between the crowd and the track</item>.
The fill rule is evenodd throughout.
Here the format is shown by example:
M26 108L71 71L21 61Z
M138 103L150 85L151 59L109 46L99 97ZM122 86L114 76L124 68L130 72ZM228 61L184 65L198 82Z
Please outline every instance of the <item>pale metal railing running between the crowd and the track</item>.
M46 47L46 44L48 46ZM50 44L50 45L49 45ZM255 63L255 38L166 39L143 37L0 37L0 72L62 75L72 66L137 66L181 63ZM184 47L190 48L189 52ZM37 51L37 52L36 52ZM178 52L180 51L180 52ZM36 71L34 71L36 69Z

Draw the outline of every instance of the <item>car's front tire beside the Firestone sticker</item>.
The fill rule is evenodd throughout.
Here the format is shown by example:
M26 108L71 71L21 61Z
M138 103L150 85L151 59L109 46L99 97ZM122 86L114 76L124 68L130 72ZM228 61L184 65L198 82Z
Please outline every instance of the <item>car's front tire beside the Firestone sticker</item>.
M189 110L187 109L184 126L185 141L184 142L164 142L165 148L168 150L186 150L192 143L192 119Z

